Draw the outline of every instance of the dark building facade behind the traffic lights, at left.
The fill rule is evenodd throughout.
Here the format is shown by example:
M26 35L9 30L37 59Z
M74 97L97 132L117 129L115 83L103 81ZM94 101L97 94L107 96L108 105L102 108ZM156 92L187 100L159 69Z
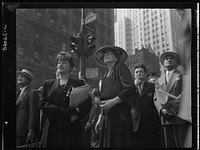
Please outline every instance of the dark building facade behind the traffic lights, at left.
M89 12L97 13L97 19L87 26L88 33L96 37L96 49L114 45L114 10L86 9L86 15ZM80 27L81 9L16 10L17 70L26 68L33 72L33 88L39 88L46 79L55 78L55 57L61 50L71 52L70 37L77 35ZM78 78L79 58L71 54L75 62L71 76ZM90 79L95 84L105 69L97 66L93 55L85 59L85 69L90 68L96 71L91 72L96 78Z

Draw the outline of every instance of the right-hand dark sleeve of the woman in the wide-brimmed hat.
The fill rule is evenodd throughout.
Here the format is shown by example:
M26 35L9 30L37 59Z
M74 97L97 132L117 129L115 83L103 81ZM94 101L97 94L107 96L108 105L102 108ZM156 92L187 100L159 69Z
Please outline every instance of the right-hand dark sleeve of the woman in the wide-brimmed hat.
M128 67L122 63L117 68L117 74L122 85L122 91L119 93L119 98L128 104L132 103L132 98L136 94L136 88Z

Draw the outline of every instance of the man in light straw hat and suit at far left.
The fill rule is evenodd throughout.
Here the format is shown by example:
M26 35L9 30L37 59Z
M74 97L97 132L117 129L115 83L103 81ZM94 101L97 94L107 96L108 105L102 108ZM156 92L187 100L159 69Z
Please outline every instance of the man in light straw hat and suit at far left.
M39 95L29 87L33 74L26 69L17 71L20 90L16 95L16 146L34 142L39 130Z

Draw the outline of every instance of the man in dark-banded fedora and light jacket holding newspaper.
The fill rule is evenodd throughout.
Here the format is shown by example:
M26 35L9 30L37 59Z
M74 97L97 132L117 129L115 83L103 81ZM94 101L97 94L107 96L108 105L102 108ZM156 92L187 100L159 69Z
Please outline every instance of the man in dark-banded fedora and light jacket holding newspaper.
M180 64L177 53L167 51L161 54L160 63L165 68L165 73L158 79L158 88L167 92L167 96L156 95L155 105L160 113L161 125L164 132L165 148L183 147L183 137L186 133L188 122L177 116L181 101L183 76L178 71ZM171 95L170 95L171 94Z

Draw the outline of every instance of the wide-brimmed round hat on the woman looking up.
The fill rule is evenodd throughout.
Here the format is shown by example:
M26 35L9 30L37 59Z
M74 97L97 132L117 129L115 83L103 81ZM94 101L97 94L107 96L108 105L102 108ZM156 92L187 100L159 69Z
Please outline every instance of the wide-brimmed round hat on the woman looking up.
M118 46L113 46L113 45L107 45L100 47L94 54L94 59L99 63L100 65L106 65L103 61L103 55L104 53L109 50L112 51L115 55L117 55L118 63L125 62L127 59L127 53L124 49Z

